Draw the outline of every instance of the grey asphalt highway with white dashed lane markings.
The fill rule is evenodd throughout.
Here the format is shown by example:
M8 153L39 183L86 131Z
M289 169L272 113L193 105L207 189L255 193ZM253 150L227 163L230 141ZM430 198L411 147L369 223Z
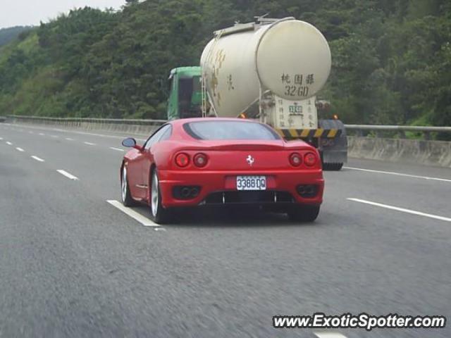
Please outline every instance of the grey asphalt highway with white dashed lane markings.
M106 202L120 201L125 153L100 134L0 124L0 337L451 337L449 323L272 327L317 312L450 320L450 169L351 160L325 173L314 224L145 227Z

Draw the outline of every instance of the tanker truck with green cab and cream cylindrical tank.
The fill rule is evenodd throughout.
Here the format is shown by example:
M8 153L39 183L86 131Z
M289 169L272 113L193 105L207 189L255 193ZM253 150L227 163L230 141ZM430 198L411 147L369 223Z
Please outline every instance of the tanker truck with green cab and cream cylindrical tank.
M295 18L256 18L214 32L200 66L171 70L168 120L199 116L258 119L285 139L319 149L325 170L347 161L345 126L318 118L316 94L328 79L328 43Z

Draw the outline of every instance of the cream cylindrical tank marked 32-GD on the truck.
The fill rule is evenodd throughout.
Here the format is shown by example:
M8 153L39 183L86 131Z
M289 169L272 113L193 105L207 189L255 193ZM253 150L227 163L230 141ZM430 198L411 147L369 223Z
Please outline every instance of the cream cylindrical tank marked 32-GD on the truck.
M293 18L218 31L201 58L206 89L223 117L245 112L260 86L283 99L308 99L326 83L330 65L326 38Z

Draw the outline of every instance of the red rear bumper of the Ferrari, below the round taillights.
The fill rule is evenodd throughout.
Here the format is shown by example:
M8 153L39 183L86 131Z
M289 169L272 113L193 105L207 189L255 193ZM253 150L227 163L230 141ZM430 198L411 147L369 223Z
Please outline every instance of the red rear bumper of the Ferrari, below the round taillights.
M291 170L291 171L259 171L259 172L228 172L228 171L187 171L187 170L159 170L159 183L161 189L161 203L165 208L200 206L209 204L211 196L217 196L224 192L226 196L237 196L236 177L237 175L264 175L266 176L266 193L261 194L264 199L243 199L242 203L247 204L309 204L319 205L323 201L324 180L321 170ZM297 192L299 184L311 184L317 187L315 196L304 198ZM173 195L175 187L198 186L199 194L192 199L176 199ZM292 199L288 202L286 198L278 201L273 199L276 195L287 196L291 194ZM249 194L245 192L245 194ZM243 194L243 195L245 195ZM258 193L254 194L258 197ZM264 195L264 196L263 196ZM240 199L221 199L223 204L240 203ZM218 204L217 199L215 199ZM219 204L221 204L221 201Z

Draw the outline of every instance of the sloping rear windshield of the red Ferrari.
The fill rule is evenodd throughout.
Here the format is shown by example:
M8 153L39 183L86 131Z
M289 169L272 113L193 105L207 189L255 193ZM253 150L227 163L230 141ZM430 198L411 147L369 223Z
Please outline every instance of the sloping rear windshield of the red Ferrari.
M194 139L280 139L270 127L249 121L197 121L183 127Z

